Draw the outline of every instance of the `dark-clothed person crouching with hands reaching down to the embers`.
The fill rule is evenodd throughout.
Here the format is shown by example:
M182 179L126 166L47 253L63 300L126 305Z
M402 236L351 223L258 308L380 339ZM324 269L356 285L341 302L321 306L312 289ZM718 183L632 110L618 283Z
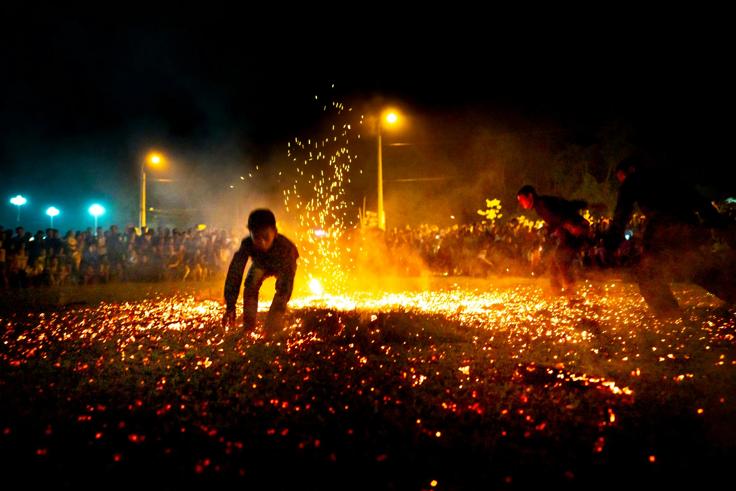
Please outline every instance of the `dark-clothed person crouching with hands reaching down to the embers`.
M247 236L240 244L240 249L233 255L230 268L225 278L225 303L227 310L222 317L222 327L235 326L235 304L238 301L243 271L252 258L243 286L243 330L247 333L255 329L255 318L258 314L258 291L263 280L269 276L276 277L276 294L271 303L264 331L275 334L283 328L283 314L286 303L294 289L294 275L297 273L297 246L276 230L276 219L269 210L255 210L248 217Z

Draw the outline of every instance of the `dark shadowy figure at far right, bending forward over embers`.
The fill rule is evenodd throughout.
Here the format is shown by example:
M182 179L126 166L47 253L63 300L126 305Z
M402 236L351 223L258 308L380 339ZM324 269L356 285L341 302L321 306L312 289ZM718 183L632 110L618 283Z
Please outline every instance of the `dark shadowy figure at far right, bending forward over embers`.
M668 172L644 169L629 157L616 167L622 182L606 247L623 241L634 203L646 216L643 252L635 275L642 296L657 314L675 313L670 283L691 282L721 300L736 301L733 250L714 241L707 229L726 229L726 221L701 194Z

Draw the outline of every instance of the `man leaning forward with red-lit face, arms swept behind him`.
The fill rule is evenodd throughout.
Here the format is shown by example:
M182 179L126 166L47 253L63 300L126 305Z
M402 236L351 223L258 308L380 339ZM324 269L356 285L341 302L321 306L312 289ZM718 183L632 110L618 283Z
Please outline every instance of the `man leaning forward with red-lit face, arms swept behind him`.
M584 201L567 201L554 196L539 196L531 186L524 186L517 193L519 204L525 210L534 210L545 221L551 240L550 286L561 293L575 284L570 266L573 264L581 240L587 236L590 224L579 210Z

